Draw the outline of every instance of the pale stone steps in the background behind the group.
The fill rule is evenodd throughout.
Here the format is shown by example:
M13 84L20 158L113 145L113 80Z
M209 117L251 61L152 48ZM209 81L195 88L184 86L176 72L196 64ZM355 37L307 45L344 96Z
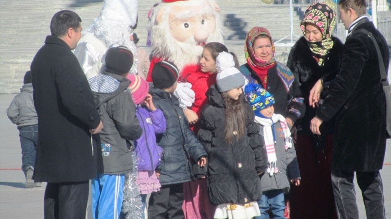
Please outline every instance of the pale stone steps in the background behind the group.
M139 46L146 43L151 6L160 0L139 0L138 26L135 32ZM75 11L82 18L83 28L96 18L103 0L0 0L0 93L17 93L22 86L24 73L37 50L50 35L50 19L59 10ZM268 28L275 41L290 33L288 4L265 4L261 0L216 0L225 30L225 44L235 52L243 64L244 38L253 26ZM298 8L298 7L295 7ZM300 18L293 13L293 33L302 36ZM293 38L293 42L297 37ZM291 46L290 37L276 47L276 57L283 63ZM287 43L286 43L287 42ZM147 48L150 49L150 48Z

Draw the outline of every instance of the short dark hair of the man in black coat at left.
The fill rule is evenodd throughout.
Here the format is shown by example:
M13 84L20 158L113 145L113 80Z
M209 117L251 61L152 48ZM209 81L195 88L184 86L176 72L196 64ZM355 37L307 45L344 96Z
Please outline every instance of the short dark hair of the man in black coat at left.
M82 19L73 11L62 10L54 14L50 21L50 33L52 36L61 37L69 28L77 32Z

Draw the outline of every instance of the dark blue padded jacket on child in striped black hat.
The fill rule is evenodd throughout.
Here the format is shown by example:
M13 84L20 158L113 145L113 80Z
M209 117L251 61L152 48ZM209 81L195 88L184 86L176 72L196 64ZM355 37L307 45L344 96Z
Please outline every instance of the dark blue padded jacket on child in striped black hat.
M207 154L200 141L189 128L189 122L179 107L178 98L161 89L151 89L156 109L166 117L166 133L156 135L156 142L163 148L163 156L156 171L160 172L160 184L176 184L194 180L190 158L195 161Z

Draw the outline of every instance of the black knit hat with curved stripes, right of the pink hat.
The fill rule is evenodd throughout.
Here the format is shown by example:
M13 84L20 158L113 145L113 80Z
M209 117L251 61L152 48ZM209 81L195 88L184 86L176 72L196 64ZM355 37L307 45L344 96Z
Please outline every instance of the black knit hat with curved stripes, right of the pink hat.
M158 62L152 69L154 88L166 89L173 86L178 79L178 68L172 62Z

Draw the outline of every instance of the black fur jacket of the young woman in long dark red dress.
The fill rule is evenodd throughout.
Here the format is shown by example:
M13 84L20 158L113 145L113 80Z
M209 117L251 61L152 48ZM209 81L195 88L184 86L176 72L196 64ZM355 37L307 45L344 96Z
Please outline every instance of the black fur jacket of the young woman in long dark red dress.
M309 106L308 97L309 91L315 83L323 78L325 84L327 81L335 79L338 73L342 60L342 52L344 44L337 37L331 37L334 42L333 47L324 60L322 66L313 58L313 53L310 51L308 42L304 37L301 37L292 47L286 66L292 71L295 77L299 80L300 90L304 97L305 114L304 117L296 122L298 133L312 136L309 128L311 119L315 117L314 108ZM324 123L321 126L322 134L331 134L334 129L334 120Z

